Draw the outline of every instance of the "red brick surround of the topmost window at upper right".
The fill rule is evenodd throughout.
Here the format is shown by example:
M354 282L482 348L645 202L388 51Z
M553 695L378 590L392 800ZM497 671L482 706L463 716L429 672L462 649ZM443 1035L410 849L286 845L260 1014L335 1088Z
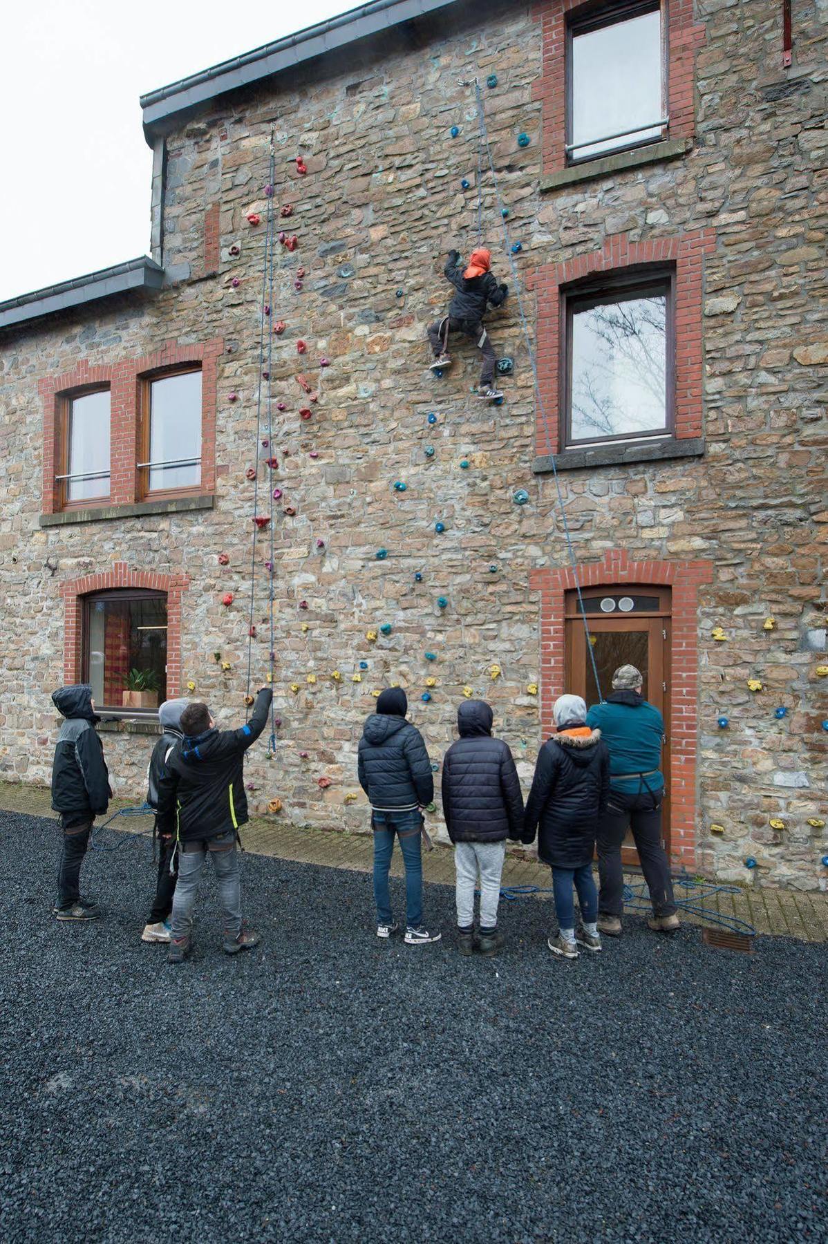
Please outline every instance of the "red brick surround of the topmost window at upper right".
M705 39L704 25L694 24L692 5L694 0L661 0L661 12L666 10L668 138L692 138L695 50ZM545 173L567 167L567 21L579 10L586 15L594 7L593 0L536 0L532 10L541 25L542 41L541 76L532 88L532 98L542 107Z

